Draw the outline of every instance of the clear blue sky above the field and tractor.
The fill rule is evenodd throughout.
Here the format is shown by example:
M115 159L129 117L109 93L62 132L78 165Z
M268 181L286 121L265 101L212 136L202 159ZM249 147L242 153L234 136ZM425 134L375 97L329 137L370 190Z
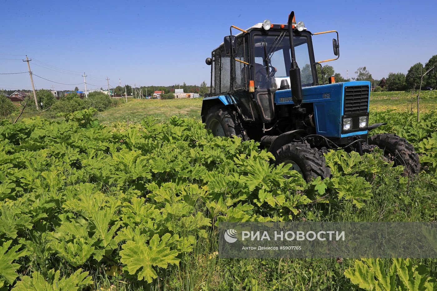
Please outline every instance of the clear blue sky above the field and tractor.
M119 79L122 85L199 85L204 80L209 85L205 58L229 34L230 25L249 28L265 19L286 23L291 10L313 33L339 31L340 59L326 64L343 76L349 70L353 77L359 66L367 66L375 79L406 73L437 54L435 0L2 0L1 8L0 73L27 71L21 61L27 54L34 59L34 74L67 84L83 82L86 72L87 83L96 87L105 87L107 76L111 87ZM329 39L314 36L316 60L332 56ZM74 87L36 76L34 82L38 89ZM29 76L0 75L0 88L30 89Z

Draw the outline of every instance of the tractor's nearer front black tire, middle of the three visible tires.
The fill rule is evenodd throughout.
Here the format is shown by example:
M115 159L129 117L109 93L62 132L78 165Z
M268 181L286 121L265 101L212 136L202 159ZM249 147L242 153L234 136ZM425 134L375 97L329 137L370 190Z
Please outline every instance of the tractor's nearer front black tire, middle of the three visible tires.
M274 156L277 165L292 162L292 169L301 173L306 181L317 177L325 179L331 175L331 170L326 166L323 153L317 149L312 149L307 143L288 143L281 146L274 153Z

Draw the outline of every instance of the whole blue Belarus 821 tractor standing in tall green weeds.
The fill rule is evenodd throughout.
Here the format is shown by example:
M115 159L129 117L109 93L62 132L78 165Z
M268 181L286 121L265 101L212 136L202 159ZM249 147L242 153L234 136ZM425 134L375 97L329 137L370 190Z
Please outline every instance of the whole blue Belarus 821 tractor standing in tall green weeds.
M232 35L232 28L239 34ZM336 34L336 58L316 62L312 36L324 33ZM337 31L311 33L302 21L296 23L294 12L288 24L231 26L206 59L211 91L203 99L202 121L214 135L260 142L277 164L291 164L305 180L329 177L323 157L329 149L363 154L379 147L406 174L417 174L419 157L406 139L390 133L369 137L384 125L368 124L370 82L318 80L316 66L322 69L321 62L339 56Z

